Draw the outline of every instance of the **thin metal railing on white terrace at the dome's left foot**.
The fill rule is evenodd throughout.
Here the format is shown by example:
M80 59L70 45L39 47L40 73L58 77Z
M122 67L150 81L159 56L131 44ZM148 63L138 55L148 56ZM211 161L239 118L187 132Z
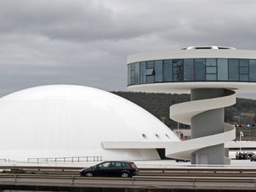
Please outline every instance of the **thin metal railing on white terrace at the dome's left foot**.
M28 158L28 163L39 162L88 162L102 161L102 156L71 156L71 157L50 157L50 158Z

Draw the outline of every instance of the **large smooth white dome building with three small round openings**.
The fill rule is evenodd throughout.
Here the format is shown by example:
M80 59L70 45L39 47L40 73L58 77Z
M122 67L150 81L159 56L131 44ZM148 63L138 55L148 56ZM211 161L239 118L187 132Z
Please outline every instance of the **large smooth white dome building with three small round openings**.
M0 117L0 159L159 159L155 149L103 149L102 142L179 141L134 103L78 85L33 87L1 97Z

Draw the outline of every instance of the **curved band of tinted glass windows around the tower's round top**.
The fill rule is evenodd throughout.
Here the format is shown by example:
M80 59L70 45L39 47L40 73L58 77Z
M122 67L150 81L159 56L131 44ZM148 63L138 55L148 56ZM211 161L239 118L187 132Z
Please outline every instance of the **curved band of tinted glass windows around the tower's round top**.
M149 60L127 65L127 83L182 81L256 82L256 60L198 58Z

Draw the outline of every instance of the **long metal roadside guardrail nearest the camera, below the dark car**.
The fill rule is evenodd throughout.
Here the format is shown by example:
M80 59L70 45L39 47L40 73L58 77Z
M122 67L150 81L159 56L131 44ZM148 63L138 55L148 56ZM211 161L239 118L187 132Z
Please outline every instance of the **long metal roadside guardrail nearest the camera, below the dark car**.
M73 179L74 178L74 179ZM251 177L175 177L175 176L136 176L134 178L85 178L79 176L33 176L17 175L2 177L0 186L63 186L100 188L193 188L193 189L232 189L255 190L255 178Z

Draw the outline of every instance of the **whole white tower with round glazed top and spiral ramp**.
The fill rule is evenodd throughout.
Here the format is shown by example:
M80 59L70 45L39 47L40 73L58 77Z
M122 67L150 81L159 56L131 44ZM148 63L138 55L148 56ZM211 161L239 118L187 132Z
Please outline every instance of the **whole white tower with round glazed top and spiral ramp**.
M191 93L191 101L170 107L170 118L191 125L191 138L166 146L166 156L191 164L228 164L224 143L235 128L224 122L224 107L236 92L255 92L256 50L191 46L129 55L128 90Z

